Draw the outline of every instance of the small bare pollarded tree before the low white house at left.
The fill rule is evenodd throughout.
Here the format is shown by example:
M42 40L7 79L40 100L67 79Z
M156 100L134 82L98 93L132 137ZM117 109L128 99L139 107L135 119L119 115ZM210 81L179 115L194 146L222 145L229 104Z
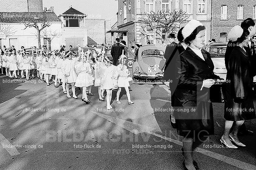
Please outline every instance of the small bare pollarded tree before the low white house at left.
M38 40L38 48L41 49L41 39L40 39L40 34L41 31L46 28L46 27L50 27L51 23L49 21L33 21L33 22L24 22L23 23L25 25L25 28L30 28L30 27L34 27L37 30L37 40ZM40 26L39 26L40 25Z

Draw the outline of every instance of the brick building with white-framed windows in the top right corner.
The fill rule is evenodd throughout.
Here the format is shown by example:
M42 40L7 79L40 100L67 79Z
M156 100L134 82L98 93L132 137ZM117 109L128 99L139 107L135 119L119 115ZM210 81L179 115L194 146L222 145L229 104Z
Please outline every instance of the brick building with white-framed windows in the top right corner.
M226 41L230 29L248 17L256 19L255 0L213 0L212 38Z

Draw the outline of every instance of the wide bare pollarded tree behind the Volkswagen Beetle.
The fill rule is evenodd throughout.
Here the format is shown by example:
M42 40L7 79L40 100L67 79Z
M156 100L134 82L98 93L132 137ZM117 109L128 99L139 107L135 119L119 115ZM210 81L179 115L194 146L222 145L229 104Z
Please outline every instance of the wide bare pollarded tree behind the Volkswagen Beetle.
M140 25L141 35L146 36L146 30L151 29L161 36L161 29L165 29L165 37L167 37L169 32L176 32L180 28L180 23L187 22L188 17L189 15L182 10L150 11L138 20L143 23Z

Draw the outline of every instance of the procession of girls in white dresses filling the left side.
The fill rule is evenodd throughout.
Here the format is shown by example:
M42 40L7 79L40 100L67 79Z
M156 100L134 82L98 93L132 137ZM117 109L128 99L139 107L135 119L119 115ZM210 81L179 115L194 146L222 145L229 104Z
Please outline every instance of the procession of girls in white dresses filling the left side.
M45 46L43 48L45 49ZM69 46L69 50L72 48ZM38 78L44 81L46 86L50 86L50 82L53 81L54 87L61 87L67 98L77 99L75 87L78 87L79 90L82 90L82 101L86 104L90 103L87 96L94 95L91 93L91 87L98 87L99 101L101 102L105 102L104 91L106 91L107 109L112 108L110 105L112 91L117 89L116 103L121 104L119 96L121 88L125 88L128 104L134 103L131 101L128 88L132 78L129 77L130 72L125 66L127 56L124 54L116 56L116 63L113 65L112 56L105 56L104 50L97 55L92 55L90 49L83 51L80 47L78 47L78 54L69 50L65 50L65 46L61 46L60 50L46 52L36 50L35 47L32 52L26 52L23 46L18 51L14 46L8 49L4 46L0 55L1 73L4 75L5 72L6 76L14 79L26 78L27 81L30 78ZM20 77L18 77L19 75ZM69 93L70 85L72 96Z

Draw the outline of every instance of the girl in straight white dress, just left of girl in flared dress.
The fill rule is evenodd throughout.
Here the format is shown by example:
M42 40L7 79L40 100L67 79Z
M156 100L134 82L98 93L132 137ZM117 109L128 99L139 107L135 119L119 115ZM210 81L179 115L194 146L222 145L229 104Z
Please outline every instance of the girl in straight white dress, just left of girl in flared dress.
M75 82L76 82L76 72L74 68L74 61L72 61L73 53L71 51L67 51L65 53L66 60L64 61L64 76L65 76L65 82L66 85L66 91L67 91L67 98L72 98L69 95L69 84L71 84L72 87L72 93L73 98L77 99L78 97L75 94Z

